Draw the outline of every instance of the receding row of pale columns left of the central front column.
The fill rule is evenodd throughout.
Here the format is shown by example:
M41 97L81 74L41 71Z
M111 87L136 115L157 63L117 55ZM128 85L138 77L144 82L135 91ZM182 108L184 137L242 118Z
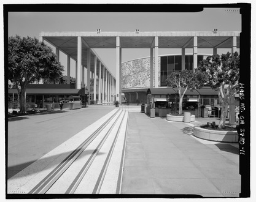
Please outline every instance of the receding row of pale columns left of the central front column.
M56 47L56 56L57 60L60 61L60 49L58 47ZM88 104L114 102L117 83L115 77L91 48L87 48L87 65L82 65L81 37L77 37L77 60L75 61L76 89L87 88ZM93 67L91 67L91 61L93 61ZM85 69L87 69L87 72L85 72ZM71 82L70 73L71 56L67 55L67 84ZM87 75L86 78L85 75Z

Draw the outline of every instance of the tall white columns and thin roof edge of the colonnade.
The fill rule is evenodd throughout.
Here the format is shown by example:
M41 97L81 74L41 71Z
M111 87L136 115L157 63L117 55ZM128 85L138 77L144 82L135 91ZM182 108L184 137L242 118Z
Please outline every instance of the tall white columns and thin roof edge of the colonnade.
M72 33L63 33L63 36L66 36L66 34L69 34L72 36ZM77 33L76 33L77 34ZM96 33L88 33L88 36L94 36L98 37L98 32ZM138 34L138 33L137 33ZM224 33L223 33L224 34ZM42 34L49 36L51 34ZM41 35L41 39L43 39ZM126 33L123 34L103 34L101 33L101 36L111 36L111 39L115 39L114 41L114 47L116 50L116 61L115 61L115 71L116 71L116 77L112 75L112 73L107 69L107 67L103 64L101 59L98 58L96 53L94 53L93 50L91 50L90 46L85 42L84 39L82 39L81 36L87 36L87 33L82 33L77 36L77 58L76 60L76 88L81 89L85 87L85 83L87 84L88 94L93 94L93 96L90 97L90 99L93 101L93 103L102 103L102 102L112 102L113 100L118 100L121 102L122 100L122 87L120 78L122 78L122 43L120 43L120 37L125 37ZM142 34L144 35L144 34ZM158 38L162 36L189 36L191 35L191 38L182 46L178 46L177 48L181 48L182 52L182 70L185 69L185 49L186 48L192 48L193 49L193 69L196 69L197 63L198 63L198 37L204 37L204 36L212 36L212 33L159 33L158 36L153 36L155 33L148 33L147 36L153 37L152 44L149 46L145 46L150 48L150 88L158 88L160 87L160 75L159 75L159 67L158 67ZM231 35L231 34L230 34ZM52 36L52 35L51 35ZM114 36L114 37L113 37ZM128 36L134 37L134 34L128 34ZM234 53L236 51L236 35L231 36L231 52ZM160 38L161 39L161 38ZM201 39L200 39L201 40ZM209 43L209 42L208 42ZM213 48L213 54L217 54L217 48L223 48L222 43L225 43L225 40L220 43L215 43L215 46L212 47L211 44L205 47L199 48ZM82 47L82 44L84 45ZM112 43L111 43L112 45ZM103 45L104 46L104 45ZM160 48L163 45L160 44ZM83 48L83 49L82 49ZM84 48L87 48L87 54L82 54ZM126 47L124 47L126 48ZM56 55L59 58L59 49L56 48ZM87 67L85 67L85 64L82 64L82 56L87 57ZM70 82L70 57L68 56L68 83ZM73 58L74 59L74 58ZM112 59L112 58L110 58ZM153 62L153 59L155 59L155 62ZM91 68L91 62L93 62L93 68ZM84 68L87 68L87 81L85 82L85 70ZM82 72L82 73L81 73ZM93 87L93 88L92 88Z

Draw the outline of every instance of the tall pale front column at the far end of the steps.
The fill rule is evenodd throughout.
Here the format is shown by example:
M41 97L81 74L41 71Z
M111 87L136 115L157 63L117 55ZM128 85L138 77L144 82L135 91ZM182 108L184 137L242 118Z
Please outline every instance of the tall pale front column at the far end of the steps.
M116 63L115 63L115 72L117 74L117 86L115 86L117 101L121 103L121 89L120 89L120 37L116 38Z

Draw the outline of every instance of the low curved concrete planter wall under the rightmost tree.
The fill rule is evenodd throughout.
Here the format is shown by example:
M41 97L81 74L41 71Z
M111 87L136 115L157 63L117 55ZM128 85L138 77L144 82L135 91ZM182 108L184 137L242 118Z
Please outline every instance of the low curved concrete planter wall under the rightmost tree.
M236 131L208 130L195 126L193 129L193 135L204 140L221 141L227 143L238 142L238 133Z

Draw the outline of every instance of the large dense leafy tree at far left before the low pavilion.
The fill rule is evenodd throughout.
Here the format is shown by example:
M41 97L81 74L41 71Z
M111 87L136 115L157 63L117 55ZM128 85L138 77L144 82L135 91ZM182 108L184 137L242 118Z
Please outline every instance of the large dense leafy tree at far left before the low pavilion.
M31 37L9 37L8 80L17 88L20 113L26 112L26 86L44 78L58 81L63 70L52 48L44 42Z

